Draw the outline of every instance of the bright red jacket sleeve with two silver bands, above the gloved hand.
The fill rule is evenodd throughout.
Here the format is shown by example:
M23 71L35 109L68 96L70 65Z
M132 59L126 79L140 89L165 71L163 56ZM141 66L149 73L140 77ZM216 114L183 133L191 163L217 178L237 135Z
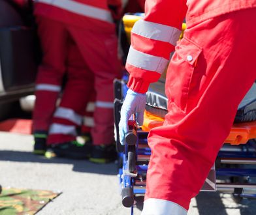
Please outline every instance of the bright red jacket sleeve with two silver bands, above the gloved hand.
M127 86L146 93L150 83L165 70L187 12L186 0L146 0L145 16L131 31L126 62L130 74Z

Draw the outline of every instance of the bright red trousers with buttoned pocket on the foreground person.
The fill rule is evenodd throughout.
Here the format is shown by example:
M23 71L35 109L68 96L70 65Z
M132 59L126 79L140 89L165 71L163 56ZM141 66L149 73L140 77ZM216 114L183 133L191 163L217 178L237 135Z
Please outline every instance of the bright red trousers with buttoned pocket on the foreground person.
M256 78L254 20L255 8L185 30L168 66L165 123L148 137L152 155L145 203L163 199L188 209L199 193Z

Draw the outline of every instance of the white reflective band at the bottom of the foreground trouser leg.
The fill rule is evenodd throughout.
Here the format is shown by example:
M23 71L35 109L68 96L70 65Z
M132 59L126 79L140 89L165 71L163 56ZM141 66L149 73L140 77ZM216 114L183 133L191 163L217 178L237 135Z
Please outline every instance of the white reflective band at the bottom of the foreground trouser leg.
M164 199L146 199L141 215L186 215L187 210Z

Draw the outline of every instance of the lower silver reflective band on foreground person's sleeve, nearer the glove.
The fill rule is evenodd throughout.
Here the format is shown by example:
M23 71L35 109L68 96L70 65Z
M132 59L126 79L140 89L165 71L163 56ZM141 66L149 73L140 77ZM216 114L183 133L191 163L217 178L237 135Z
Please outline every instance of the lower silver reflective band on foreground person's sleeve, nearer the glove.
M163 57L156 57L141 51L137 51L130 46L127 63L144 70L150 70L152 72L162 74L167 67L168 60Z

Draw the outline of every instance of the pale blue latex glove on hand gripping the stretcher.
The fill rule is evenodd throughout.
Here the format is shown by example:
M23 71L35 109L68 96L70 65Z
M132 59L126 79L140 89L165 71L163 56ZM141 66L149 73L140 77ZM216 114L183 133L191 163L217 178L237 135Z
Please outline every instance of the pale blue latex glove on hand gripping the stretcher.
M128 121L133 113L136 114L136 122L143 124L144 110L146 107L146 94L135 93L131 89L127 91L123 106L121 107L121 119L119 122L119 136L121 145L125 145L125 134L129 131Z

